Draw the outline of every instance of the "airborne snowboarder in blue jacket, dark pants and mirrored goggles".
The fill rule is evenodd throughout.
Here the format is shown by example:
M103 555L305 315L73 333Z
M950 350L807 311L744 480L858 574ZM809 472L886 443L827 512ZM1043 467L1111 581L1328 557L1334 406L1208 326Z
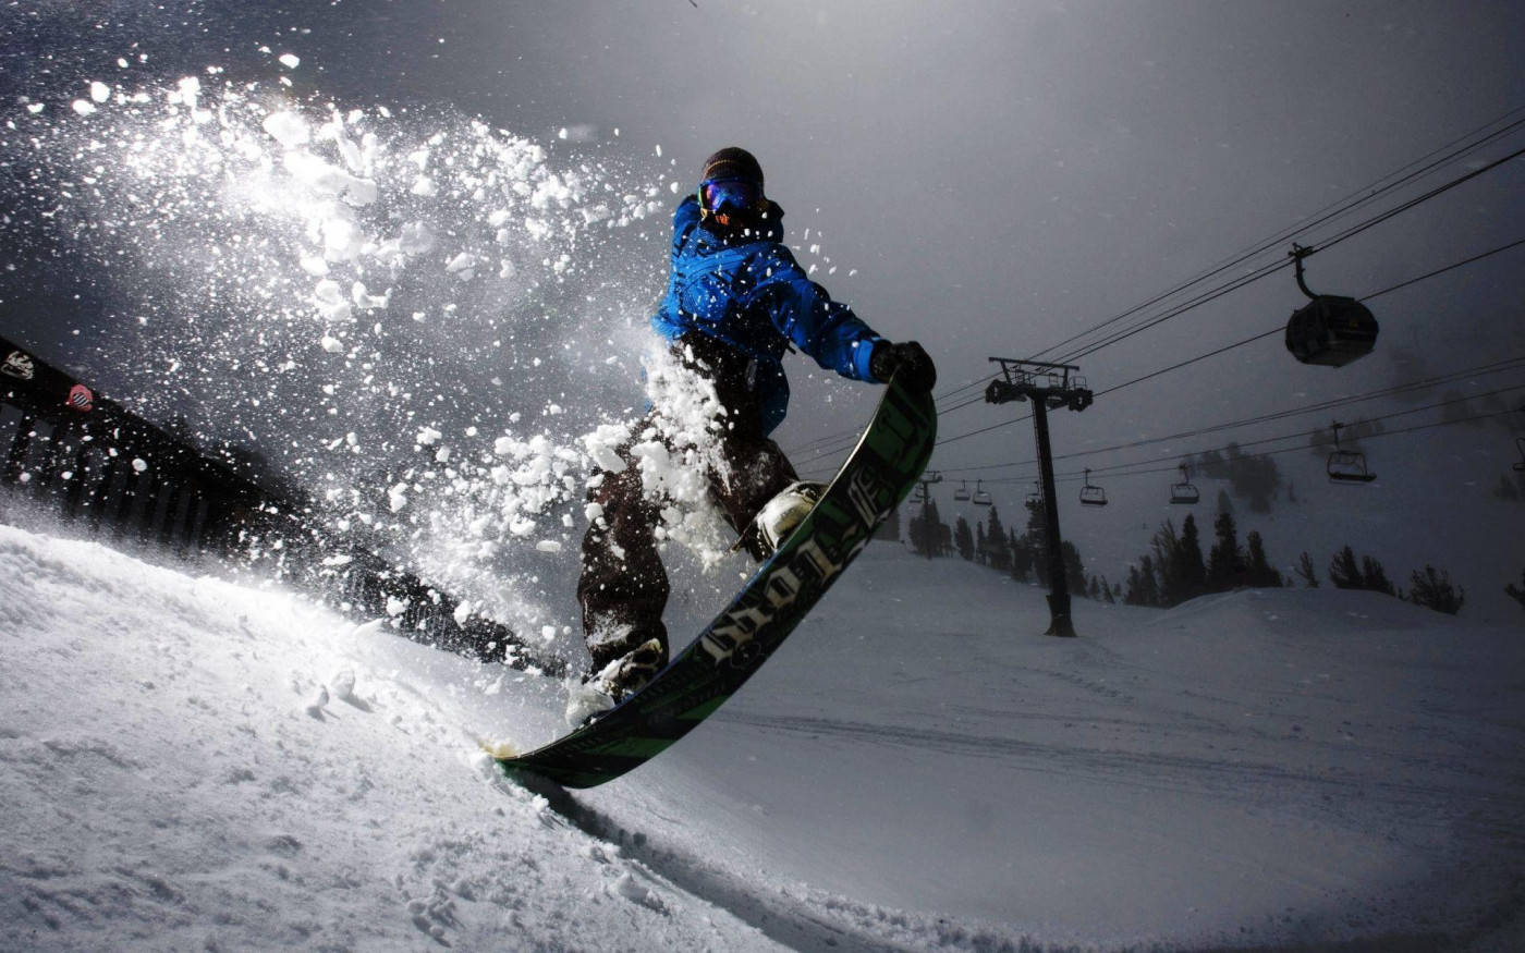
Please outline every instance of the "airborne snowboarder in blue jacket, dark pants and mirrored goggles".
M683 366L715 387L723 416L714 435L727 473L706 474L711 497L759 560L769 546L747 529L753 517L779 494L801 493L795 468L769 439L788 407L784 354L804 351L859 381L901 374L927 390L936 381L921 345L886 342L810 281L782 244L782 217L750 152L732 146L711 156L697 194L673 215L673 270L651 319ZM572 721L618 704L668 660L662 610L669 587L654 538L660 502L644 494L630 445L619 454L625 468L592 482L598 515L583 540L578 601L593 665L567 708Z

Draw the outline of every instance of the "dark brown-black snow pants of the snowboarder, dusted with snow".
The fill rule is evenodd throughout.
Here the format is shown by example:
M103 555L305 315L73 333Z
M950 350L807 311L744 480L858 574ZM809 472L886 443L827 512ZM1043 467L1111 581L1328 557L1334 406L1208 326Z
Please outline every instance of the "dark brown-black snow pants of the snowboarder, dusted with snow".
M711 499L740 534L764 503L799 477L778 444L762 433L755 367L749 367L752 358L700 332L685 335L674 345L674 354L715 384L726 409L717 439L730 479L714 470L706 476ZM637 433L640 430L644 427ZM660 640L663 653L668 648L662 610L671 587L656 543L662 500L650 500L642 493L640 468L630 444L618 453L625 468L605 471L604 480L589 491L589 502L602 506L602 525L593 520L583 537L576 587L583 636L595 672L648 639ZM747 549L761 557L755 541Z

